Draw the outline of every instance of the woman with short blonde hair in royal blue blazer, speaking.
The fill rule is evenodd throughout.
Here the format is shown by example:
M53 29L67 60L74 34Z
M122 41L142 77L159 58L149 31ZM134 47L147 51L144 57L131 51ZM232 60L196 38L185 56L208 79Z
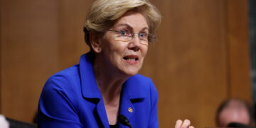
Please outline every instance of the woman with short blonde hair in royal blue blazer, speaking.
M46 82L39 127L159 127L156 87L137 73L160 20L146 0L95 1L84 29L90 52Z

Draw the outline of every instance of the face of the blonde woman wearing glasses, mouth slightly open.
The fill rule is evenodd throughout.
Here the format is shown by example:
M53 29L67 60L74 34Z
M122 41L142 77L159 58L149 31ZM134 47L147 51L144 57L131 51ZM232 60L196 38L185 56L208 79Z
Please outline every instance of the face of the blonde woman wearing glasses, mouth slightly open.
M129 37L132 35L129 33L139 34ZM102 36L103 63L113 73L137 74L148 50L148 43L144 40L147 33L149 26L146 18L140 13L128 11Z

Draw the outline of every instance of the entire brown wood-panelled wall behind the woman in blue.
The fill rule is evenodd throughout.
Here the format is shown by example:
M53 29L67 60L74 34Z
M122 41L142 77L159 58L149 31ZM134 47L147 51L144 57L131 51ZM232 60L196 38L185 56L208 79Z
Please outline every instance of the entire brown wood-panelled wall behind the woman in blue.
M89 50L82 27L93 1L0 0L0 114L33 122L46 80ZM214 127L223 100L253 103L255 1L150 1L163 18L140 73L159 91L160 127Z

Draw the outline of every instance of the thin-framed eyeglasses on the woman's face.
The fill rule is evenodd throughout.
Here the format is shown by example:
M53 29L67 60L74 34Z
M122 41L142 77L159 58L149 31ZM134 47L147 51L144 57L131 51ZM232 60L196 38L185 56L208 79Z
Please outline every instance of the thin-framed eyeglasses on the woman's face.
M144 45L148 45L149 41L156 38L155 36L151 35L150 33L144 33L144 32L132 33L131 31L127 31L127 30L120 30L120 31L107 30L107 31L113 31L113 32L117 33L117 37L116 37L117 41L123 41L123 42L131 41L135 34L138 35L139 42Z

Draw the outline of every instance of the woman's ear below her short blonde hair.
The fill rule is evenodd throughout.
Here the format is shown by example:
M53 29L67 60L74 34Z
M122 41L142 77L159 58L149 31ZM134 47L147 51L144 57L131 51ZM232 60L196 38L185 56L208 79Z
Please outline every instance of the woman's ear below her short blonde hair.
M102 51L99 33L90 33L90 43L95 53L100 53Z

